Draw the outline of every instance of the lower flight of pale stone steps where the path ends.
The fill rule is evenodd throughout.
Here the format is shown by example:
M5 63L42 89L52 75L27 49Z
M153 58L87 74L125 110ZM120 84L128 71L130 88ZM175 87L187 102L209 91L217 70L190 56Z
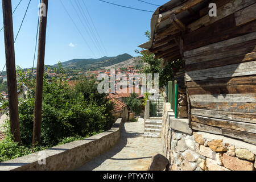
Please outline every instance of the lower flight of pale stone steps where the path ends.
M162 117L151 117L145 121L144 138L161 138Z

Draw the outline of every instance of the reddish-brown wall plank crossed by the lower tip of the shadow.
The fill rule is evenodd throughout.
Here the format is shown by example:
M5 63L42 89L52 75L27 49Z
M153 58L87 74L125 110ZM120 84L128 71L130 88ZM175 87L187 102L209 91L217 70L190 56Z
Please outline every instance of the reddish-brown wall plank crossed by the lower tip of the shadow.
M188 88L188 92L191 95L256 93L256 84L254 84L254 85L207 86L207 87Z

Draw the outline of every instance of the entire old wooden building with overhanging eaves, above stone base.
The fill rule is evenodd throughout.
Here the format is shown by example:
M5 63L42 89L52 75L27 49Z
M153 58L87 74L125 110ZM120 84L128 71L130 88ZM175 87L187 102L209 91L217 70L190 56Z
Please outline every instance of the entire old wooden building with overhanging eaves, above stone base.
M163 66L184 60L193 131L256 144L255 10L256 0L172 0L152 15L152 39L139 47Z

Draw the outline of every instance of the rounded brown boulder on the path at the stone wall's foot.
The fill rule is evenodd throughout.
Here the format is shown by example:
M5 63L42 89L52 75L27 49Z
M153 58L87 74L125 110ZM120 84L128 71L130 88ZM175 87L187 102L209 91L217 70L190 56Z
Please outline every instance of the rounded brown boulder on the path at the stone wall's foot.
M152 156L148 171L163 171L166 169L169 160L161 154L155 153Z

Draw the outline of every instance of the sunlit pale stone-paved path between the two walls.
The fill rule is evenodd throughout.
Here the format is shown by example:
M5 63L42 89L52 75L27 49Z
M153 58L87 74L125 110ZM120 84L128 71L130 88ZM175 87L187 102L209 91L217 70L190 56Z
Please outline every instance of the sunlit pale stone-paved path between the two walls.
M146 171L154 152L162 154L160 138L143 138L144 119L123 123L121 138L112 150L78 168L78 171Z

